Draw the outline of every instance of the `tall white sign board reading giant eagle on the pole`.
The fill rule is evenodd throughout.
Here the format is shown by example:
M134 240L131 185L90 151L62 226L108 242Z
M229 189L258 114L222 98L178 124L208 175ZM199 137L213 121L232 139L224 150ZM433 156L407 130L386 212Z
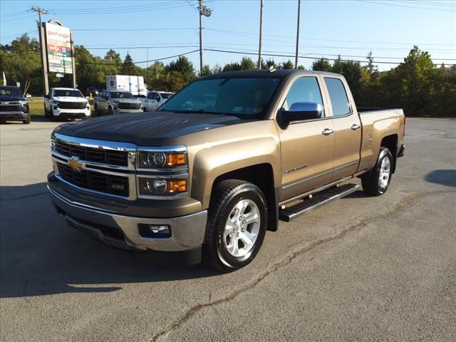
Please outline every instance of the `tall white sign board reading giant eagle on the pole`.
M46 23L46 54L48 71L52 73L73 73L70 29Z

